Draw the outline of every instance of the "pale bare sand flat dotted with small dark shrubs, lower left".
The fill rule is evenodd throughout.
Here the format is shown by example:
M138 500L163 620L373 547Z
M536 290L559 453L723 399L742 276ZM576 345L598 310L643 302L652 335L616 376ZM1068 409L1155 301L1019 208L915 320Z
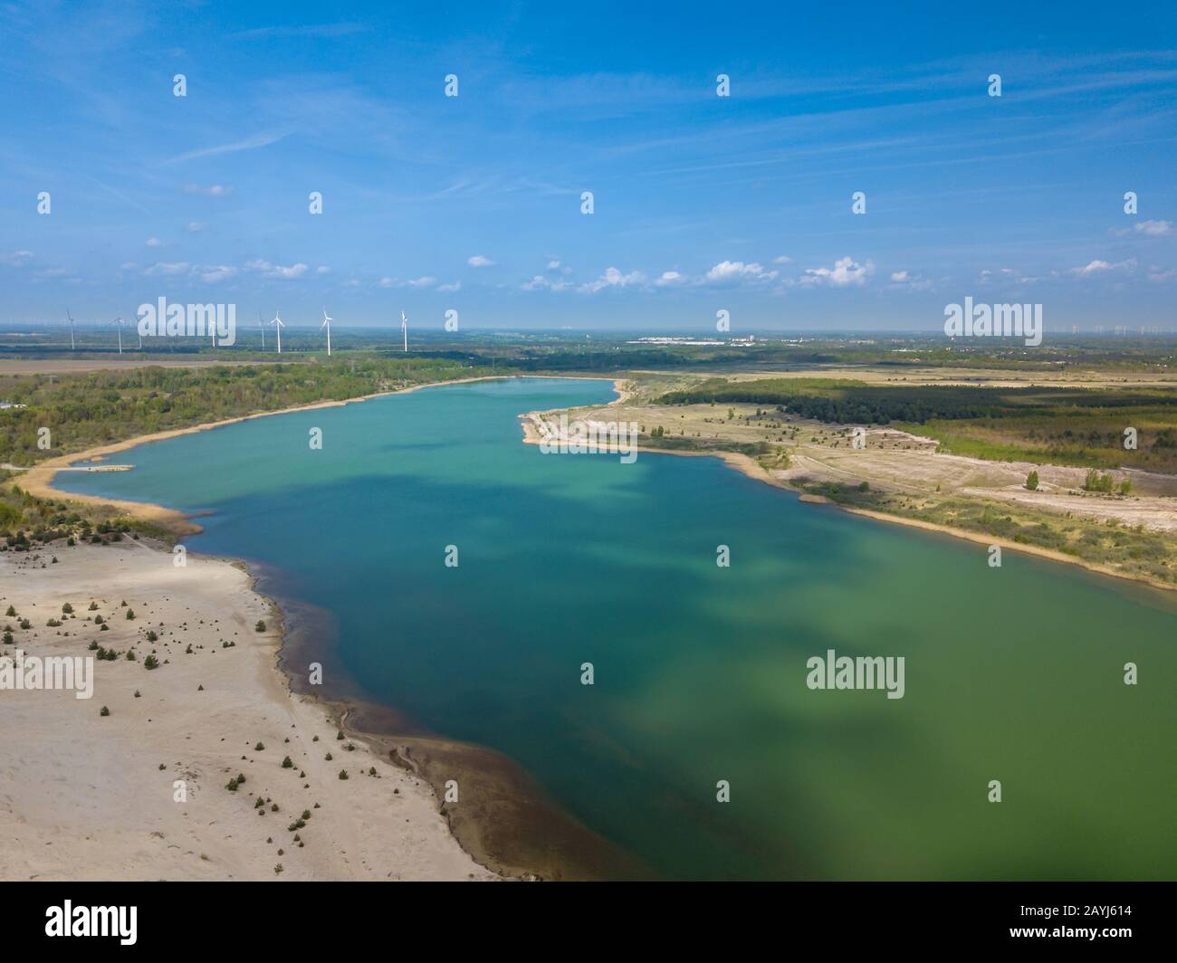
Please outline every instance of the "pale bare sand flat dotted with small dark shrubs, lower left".
M67 602L74 617L47 626ZM0 617L14 630L6 655L93 657L93 640L137 658L94 660L89 699L0 690L0 878L494 878L423 777L380 745L337 739L328 710L290 692L280 618L235 564L189 553L177 567L129 539L4 552L8 605L31 627ZM153 651L160 665L147 670ZM246 781L230 791L238 773Z

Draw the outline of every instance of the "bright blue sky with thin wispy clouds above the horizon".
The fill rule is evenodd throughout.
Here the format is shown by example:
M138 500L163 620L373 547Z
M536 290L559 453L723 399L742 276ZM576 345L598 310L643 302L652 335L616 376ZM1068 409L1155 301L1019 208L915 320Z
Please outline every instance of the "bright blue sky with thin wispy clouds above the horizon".
M1177 324L1177 13L956 6L4 4L0 320Z

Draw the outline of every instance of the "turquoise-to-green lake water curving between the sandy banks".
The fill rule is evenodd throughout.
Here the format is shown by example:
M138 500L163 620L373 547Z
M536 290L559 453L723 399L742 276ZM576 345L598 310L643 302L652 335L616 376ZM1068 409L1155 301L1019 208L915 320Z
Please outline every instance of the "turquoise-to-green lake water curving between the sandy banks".
M512 757L659 874L1177 876L1168 600L1013 552L990 569L984 546L803 505L716 459L520 443L519 412L610 397L430 388L59 482L211 511L188 546L265 563L330 611L368 698ZM827 649L903 656L904 698L807 689Z

